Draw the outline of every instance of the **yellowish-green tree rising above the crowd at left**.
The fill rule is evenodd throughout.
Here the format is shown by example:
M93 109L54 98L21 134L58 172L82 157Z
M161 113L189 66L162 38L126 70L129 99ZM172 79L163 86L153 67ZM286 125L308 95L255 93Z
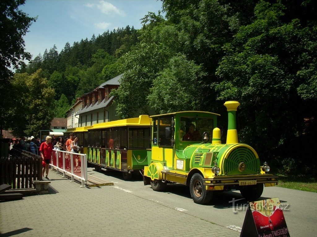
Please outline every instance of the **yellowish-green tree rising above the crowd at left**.
M46 78L38 70L32 75L16 73L13 77L12 93L19 98L11 104L10 128L17 136L39 136L47 130L53 119L54 89L49 88Z

